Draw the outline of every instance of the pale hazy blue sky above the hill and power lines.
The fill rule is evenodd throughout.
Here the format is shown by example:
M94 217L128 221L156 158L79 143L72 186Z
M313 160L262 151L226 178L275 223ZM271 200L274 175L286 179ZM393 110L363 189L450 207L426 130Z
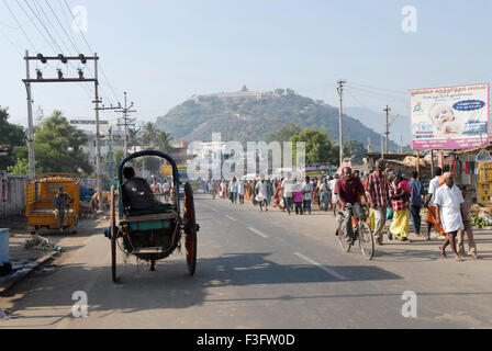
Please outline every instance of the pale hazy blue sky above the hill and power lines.
M416 11L416 32L402 30L407 5ZM87 23L89 45L71 27L68 8L76 7L87 10L78 23ZM381 111L383 123L387 104L409 115L409 89L492 80L491 13L488 0L0 0L0 105L9 106L10 122L27 124L24 52L56 56L56 42L66 55L97 52L104 104L123 102L126 91L142 121L154 122L192 94L243 84L291 88L337 105L336 81L344 79L344 105ZM56 61L31 65L32 76L35 68L45 78L56 68L77 75ZM86 77L93 72L88 66ZM93 118L93 86L82 86L37 83L34 110ZM102 120L116 116L101 112Z

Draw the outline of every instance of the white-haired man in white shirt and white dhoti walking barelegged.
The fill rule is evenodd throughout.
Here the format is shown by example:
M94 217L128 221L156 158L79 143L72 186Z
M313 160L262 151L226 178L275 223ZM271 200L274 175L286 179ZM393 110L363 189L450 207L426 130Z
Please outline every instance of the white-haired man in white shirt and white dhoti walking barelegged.
M461 261L456 249L456 235L458 230L463 229L460 204L465 202L465 200L458 186L455 185L454 174L446 172L443 174L443 178L445 182L437 189L434 197L437 213L436 224L443 225L443 228L446 231L446 240L440 247L440 254L446 257L446 247L450 244L456 260Z

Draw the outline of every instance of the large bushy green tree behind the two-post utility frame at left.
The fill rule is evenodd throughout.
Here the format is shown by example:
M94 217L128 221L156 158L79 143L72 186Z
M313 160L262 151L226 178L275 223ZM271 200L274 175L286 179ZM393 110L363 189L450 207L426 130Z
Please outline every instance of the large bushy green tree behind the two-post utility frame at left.
M81 149L87 143L86 134L71 126L60 111L55 110L34 132L36 165L45 172L93 171L88 155ZM27 147L16 147L14 156L27 159Z

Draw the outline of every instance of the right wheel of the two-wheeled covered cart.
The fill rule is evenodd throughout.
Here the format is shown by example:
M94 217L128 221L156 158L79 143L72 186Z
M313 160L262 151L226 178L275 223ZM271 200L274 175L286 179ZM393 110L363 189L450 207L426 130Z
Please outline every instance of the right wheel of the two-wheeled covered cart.
M183 218L187 220L185 247L187 250L188 271L190 275L193 275L197 268L197 222L194 217L193 190L189 182L185 184Z

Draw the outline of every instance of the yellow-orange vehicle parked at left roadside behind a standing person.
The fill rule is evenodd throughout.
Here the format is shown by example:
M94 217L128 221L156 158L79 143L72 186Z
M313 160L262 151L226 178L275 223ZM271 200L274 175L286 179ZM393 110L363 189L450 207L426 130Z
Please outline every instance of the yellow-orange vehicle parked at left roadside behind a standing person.
M68 211L68 233L77 233L80 212L80 178L71 173L45 173L34 176L26 184L25 215L27 216L27 230L31 234L67 231L58 226L53 205L53 199L58 193L60 185L72 199Z

